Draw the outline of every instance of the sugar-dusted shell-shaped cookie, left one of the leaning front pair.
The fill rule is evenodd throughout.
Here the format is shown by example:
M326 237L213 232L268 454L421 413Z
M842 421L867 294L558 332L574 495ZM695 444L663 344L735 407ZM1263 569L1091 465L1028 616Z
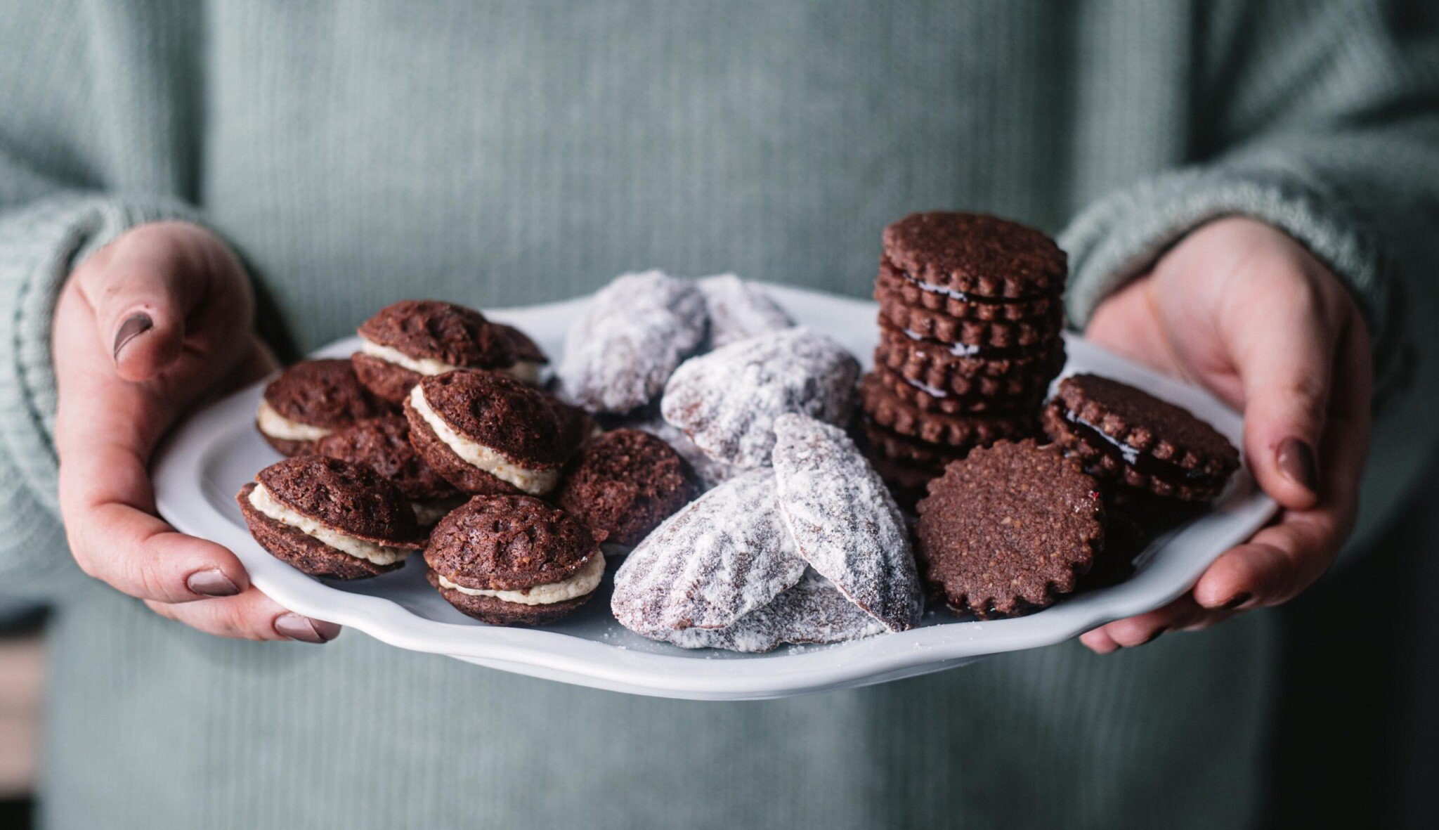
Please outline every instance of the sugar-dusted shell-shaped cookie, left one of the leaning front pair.
M668 639L724 629L799 583L774 470L753 470L689 502L646 537L614 574L612 608L632 631Z

